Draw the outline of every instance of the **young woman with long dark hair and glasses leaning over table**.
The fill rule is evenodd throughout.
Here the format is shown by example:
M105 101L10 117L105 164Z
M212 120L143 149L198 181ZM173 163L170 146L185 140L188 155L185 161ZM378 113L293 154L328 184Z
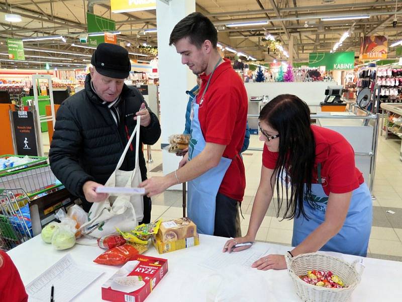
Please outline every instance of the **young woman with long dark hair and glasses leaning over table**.
M310 109L294 95L279 95L259 116L264 141L260 184L247 235L226 242L226 251L253 242L274 192L277 216L293 219L289 254L334 251L366 256L372 222L371 195L355 167L354 151L339 133L311 125ZM257 269L284 269L283 255L267 255Z

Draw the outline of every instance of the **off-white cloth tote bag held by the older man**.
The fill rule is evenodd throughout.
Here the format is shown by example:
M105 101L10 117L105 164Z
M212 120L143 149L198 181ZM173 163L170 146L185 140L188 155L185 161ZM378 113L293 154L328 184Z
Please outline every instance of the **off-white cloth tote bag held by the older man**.
M140 143L140 121L138 116L137 126L120 157L116 170L106 182L106 187L138 187L141 183L141 171L138 160L138 150ZM137 134L137 135L136 135ZM136 155L135 168L133 171L119 170L123 164L127 150L136 135ZM94 202L89 210L88 222L81 225L81 232L86 237L100 238L105 235L116 233L116 228L127 232L133 230L138 222L144 217L144 202L142 195L119 195L109 196L105 201ZM88 240L80 240L77 243L93 244Z

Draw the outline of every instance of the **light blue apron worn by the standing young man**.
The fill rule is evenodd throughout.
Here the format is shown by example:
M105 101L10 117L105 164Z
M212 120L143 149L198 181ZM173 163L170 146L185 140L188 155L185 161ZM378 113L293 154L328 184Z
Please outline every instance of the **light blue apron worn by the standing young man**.
M204 95L210 85L212 75L221 60L222 58L215 65L211 73L207 86L199 101L200 105L204 102ZM193 99L191 106L190 118L192 118L192 121L190 128L191 137L188 145L188 160L195 158L206 146L206 141L199 125L199 105L196 104L195 101L196 97ZM199 234L214 235L216 196L231 163L231 159L222 157L217 167L208 170L203 175L188 182L187 216L194 221Z

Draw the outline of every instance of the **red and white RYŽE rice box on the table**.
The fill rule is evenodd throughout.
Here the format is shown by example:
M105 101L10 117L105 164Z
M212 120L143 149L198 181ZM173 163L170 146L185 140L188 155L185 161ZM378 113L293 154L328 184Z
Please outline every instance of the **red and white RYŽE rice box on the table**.
M137 255L102 285L102 298L143 302L166 273L167 259Z

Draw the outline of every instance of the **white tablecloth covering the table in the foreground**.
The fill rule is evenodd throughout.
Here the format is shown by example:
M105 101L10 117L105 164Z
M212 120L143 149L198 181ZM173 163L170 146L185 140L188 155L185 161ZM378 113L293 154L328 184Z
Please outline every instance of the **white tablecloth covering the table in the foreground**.
M198 263L216 251L221 251L226 238L200 235L200 245L163 255L159 255L153 246L145 253L168 259L168 273L150 293L147 301L185 301L183 290L191 287L189 282L200 280L213 270L199 266ZM254 248L269 248L269 253L285 253L289 248L268 243L256 243ZM105 273L81 292L74 301L102 301L101 286L110 278L118 267L93 263L103 250L97 247L75 245L66 251L56 251L50 244L42 241L40 236L25 242L9 251L25 285L34 280L43 271L70 253L79 264L102 269ZM356 256L330 253L345 261L352 262ZM365 270L360 284L352 293L350 301L401 301L402 300L402 262L364 258ZM249 268L240 267L246 272ZM266 282L266 301L300 301L291 278L286 270L258 271ZM241 276L239 276L241 278ZM205 299L204 299L205 300ZM187 301L186 301L187 302Z

